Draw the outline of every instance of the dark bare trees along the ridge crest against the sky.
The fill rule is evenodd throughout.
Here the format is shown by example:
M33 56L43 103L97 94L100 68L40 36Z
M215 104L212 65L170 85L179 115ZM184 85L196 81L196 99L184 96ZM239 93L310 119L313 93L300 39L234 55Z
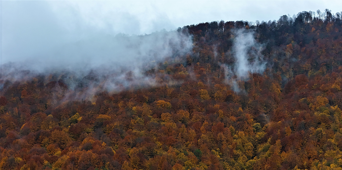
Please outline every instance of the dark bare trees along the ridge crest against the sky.
M341 12L342 13L342 12ZM331 13L331 10L326 9L324 12L317 10L317 13L313 11L303 11L298 13L297 15L293 15L293 17L288 15L280 16L280 18L276 20L269 20L268 22L262 21L259 22L257 20L254 22L248 21L230 21L224 22L224 20L207 22L207 23L199 23L196 25L188 25L183 28L179 27L178 30L188 29L192 34L201 34L205 35L206 33L210 34L223 34L225 30L230 30L231 28L243 28L248 27L254 29L258 33L266 33L267 31L285 31L295 33L299 31L298 28L302 28L307 25L314 25L319 23L327 24L329 22L334 22L336 24L342 24L342 16L340 12L336 14ZM294 28L293 28L294 27ZM292 28L292 29L290 29ZM297 29L295 29L297 28ZM288 32L289 33L289 32Z

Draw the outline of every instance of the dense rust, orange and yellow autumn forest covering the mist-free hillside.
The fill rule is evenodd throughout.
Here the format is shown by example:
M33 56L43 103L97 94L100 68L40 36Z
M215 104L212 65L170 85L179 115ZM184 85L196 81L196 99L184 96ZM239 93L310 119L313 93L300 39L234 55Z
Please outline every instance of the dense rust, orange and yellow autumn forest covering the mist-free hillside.
M267 69L235 92L220 63L233 65L240 28L264 44ZM146 71L159 86L68 100L94 79L2 80L0 169L342 170L340 13L177 31L193 35L193 53Z

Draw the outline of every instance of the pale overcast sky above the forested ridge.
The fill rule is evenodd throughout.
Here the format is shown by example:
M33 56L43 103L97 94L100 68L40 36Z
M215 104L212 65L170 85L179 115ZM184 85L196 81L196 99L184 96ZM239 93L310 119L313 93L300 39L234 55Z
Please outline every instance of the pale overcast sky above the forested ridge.
M98 35L149 34L213 20L277 20L301 11L341 12L336 0L0 1L1 63Z

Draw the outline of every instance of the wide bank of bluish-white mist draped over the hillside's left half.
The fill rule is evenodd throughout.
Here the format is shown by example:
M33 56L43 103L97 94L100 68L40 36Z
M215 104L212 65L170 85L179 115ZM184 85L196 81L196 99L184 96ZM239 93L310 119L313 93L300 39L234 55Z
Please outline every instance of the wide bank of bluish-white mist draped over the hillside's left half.
M155 77L145 75L145 71L165 60L182 60L192 47L192 37L177 31L144 36L97 35L23 58L23 61L5 63L1 65L1 79L16 81L38 74L64 74L64 77L72 75L83 79L83 84L95 83L93 86L105 90L152 86ZM76 86L77 79L70 80L68 85Z

